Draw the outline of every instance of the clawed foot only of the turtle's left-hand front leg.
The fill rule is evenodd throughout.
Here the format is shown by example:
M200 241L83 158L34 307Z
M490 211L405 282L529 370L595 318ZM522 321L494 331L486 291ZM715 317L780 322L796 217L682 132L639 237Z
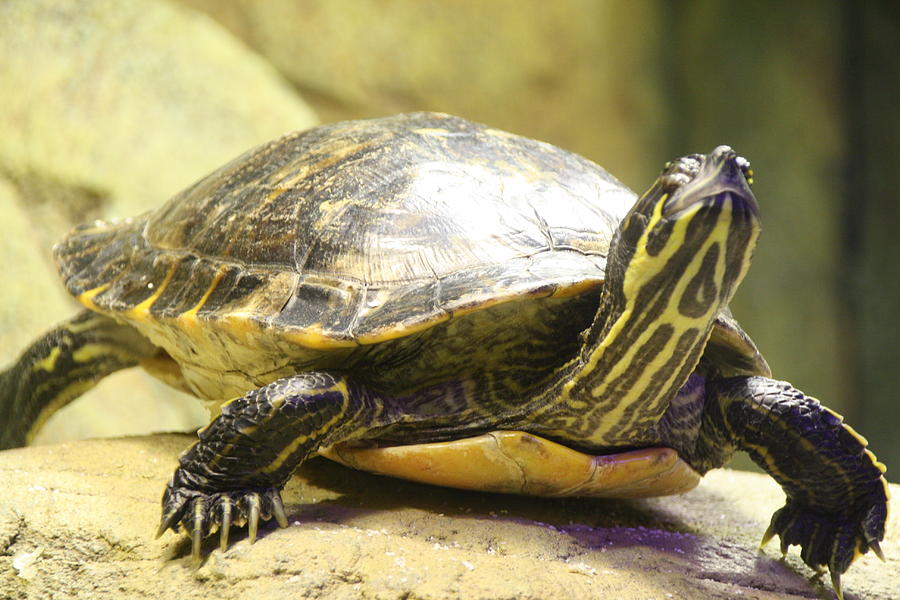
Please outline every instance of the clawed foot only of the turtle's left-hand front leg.
M169 483L163 495L163 515L156 537L167 529L177 533L180 524L190 534L191 554L195 561L199 561L203 538L219 531L219 545L225 550L231 526L249 524L252 544L256 541L259 519L266 521L273 516L278 525L288 526L281 492L275 488L204 493Z

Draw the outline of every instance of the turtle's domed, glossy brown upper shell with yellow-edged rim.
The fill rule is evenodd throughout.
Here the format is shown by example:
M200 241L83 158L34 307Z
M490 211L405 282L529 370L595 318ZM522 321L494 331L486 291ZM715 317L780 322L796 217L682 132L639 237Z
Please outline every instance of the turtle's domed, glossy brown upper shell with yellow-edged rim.
M330 350L597 286L634 200L549 144L415 113L286 135L156 212L75 230L56 258L83 304L179 362Z

